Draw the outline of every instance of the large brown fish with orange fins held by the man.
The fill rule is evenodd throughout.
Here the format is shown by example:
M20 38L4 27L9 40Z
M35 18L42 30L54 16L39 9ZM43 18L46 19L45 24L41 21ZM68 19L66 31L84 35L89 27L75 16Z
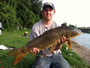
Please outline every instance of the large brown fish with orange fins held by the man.
M74 38L81 34L81 30L75 27L57 27L50 29L40 35L39 37L30 41L26 46L12 50L8 53L9 56L15 56L14 65L16 65L30 50L33 48L38 48L39 50L44 50L45 48L51 47L50 51L53 52L55 45L58 40L63 36L68 38L68 47L71 48L70 38Z

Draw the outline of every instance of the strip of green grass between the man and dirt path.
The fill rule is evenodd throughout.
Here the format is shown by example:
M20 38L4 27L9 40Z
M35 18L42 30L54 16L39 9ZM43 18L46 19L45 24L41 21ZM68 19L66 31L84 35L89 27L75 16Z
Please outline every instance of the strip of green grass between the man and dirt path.
M62 47L62 54L66 60L68 60L71 68L88 68L89 65L80 58L75 52L73 52L71 49L66 49L67 45L63 44Z

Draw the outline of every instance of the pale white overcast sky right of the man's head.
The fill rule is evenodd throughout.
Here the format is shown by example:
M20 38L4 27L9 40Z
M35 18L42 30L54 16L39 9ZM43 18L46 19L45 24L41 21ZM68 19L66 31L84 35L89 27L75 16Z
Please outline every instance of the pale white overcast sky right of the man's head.
M48 1L55 5L54 20L59 24L90 27L90 0L43 0L43 3Z

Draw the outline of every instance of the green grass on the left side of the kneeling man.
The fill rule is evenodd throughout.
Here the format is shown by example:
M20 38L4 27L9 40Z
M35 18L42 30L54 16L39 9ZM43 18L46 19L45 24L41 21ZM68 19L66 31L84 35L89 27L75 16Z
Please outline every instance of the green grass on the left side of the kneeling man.
M24 31L12 31L7 32L4 31L2 35L0 35L0 45L5 45L7 47L15 47L20 48L27 44L29 41L29 33L27 37L24 37ZM16 66L13 66L14 57L10 57L7 53L11 50L0 50L0 61L3 63L3 68L30 68L35 61L35 56L32 54L27 54L20 63Z

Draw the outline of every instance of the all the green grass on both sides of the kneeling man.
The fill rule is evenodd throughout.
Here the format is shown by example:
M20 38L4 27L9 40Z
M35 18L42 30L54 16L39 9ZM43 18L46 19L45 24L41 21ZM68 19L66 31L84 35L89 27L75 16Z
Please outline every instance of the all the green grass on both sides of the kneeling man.
M29 32L29 31L28 31ZM29 32L30 33L30 32ZM24 31L4 31L0 35L0 45L3 44L7 47L20 48L27 44L29 41L29 33L27 37L24 37ZM65 50L65 45L62 48L62 54L65 59L68 60L71 68L89 68L90 66L80 58L72 50ZM3 68L31 68L32 64L35 62L35 56L32 54L27 54L16 66L13 66L14 57L10 57L7 53L11 50L0 50L0 61L3 63Z

